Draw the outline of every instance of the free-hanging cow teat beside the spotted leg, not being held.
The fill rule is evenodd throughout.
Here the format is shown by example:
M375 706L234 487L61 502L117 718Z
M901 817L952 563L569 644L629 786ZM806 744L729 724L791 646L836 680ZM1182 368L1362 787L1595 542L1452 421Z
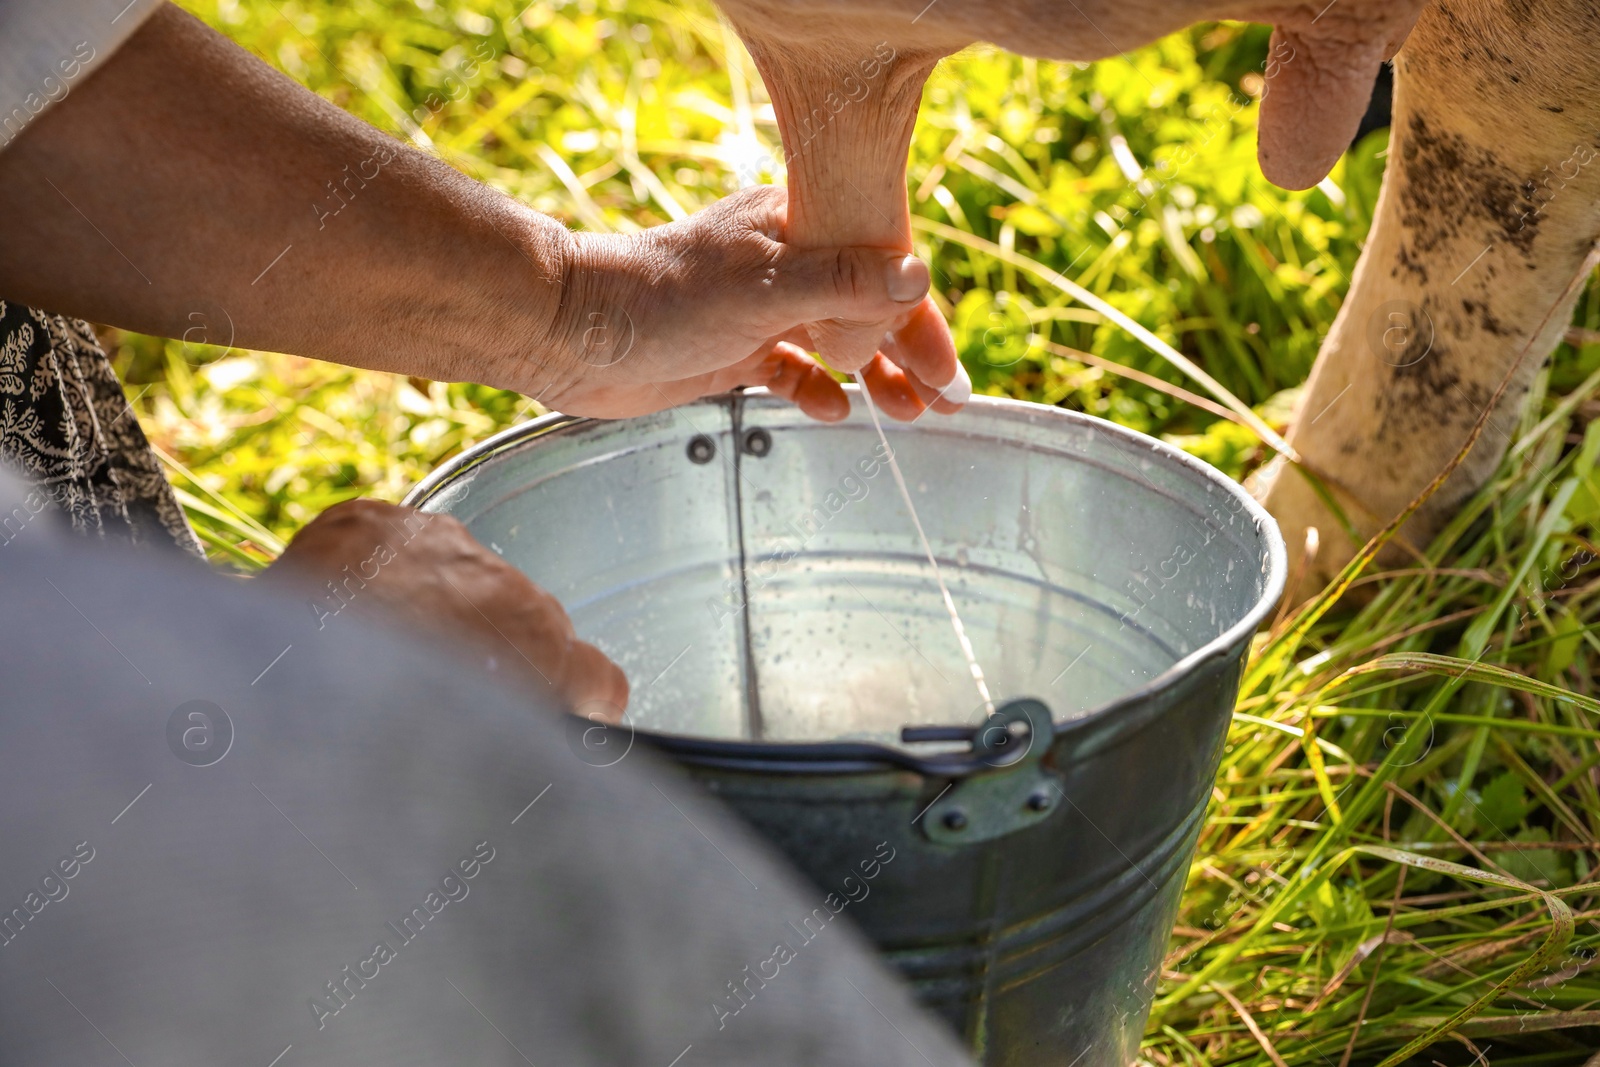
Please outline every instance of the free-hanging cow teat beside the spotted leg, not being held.
M1378 18L1352 11L1366 16L1360 24L1336 14L1272 30L1256 149L1267 181L1310 189L1328 176L1362 125L1378 67L1405 40L1421 6L1402 0Z

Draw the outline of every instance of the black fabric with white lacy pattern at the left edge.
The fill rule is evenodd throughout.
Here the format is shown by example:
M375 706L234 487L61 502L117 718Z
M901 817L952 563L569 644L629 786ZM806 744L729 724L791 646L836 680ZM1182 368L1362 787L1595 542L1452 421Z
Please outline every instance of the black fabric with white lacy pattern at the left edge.
M0 462L82 534L205 558L86 322L0 301Z

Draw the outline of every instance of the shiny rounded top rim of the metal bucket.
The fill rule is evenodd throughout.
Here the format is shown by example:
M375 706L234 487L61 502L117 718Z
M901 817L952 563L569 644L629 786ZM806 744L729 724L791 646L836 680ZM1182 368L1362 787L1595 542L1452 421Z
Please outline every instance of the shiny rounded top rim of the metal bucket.
M859 386L846 384L846 395L859 394ZM728 394L718 394L714 397L702 397L691 403L675 405L675 408L666 408L664 411L672 411L677 408L698 408L698 406L730 406L730 405L757 405L763 408L782 408L789 410L787 400L774 397L766 389L742 389ZM851 405L853 408L856 405ZM1262 541L1262 550L1266 555L1266 584L1261 595L1250 606L1248 611L1242 613L1240 617L1226 630L1213 637L1210 641L1200 645L1194 651L1174 661L1158 675L1146 681L1142 686L1123 693L1098 707L1093 707L1082 715L1074 715L1067 720L1056 720L1056 737L1064 734L1082 734L1091 731L1109 720L1117 718L1118 710L1133 704L1152 704L1162 697L1168 689L1178 688L1184 680L1192 677L1200 667L1211 659L1226 657L1235 648L1246 643L1251 633L1261 625L1278 600L1283 597L1283 589L1288 581L1288 552L1283 542L1283 533L1278 530L1278 523L1267 510L1245 490L1243 485L1227 477L1211 464L1205 462L1197 456L1190 456L1176 445L1170 445L1149 434L1141 434L1131 430L1125 426L1118 426L1110 419L1102 419L1098 416L1085 414L1082 411L1069 411L1066 408L1056 408L1051 405L1034 403L1029 400L1014 400L1011 397L987 397L982 394L973 394L966 406L978 406L981 410L994 411L998 414L1010 414L1027 419L1056 419L1062 424L1080 426L1094 430L1096 434L1106 434L1120 438L1125 443L1136 445L1154 454L1155 459L1176 466L1181 470L1200 478L1202 482L1221 488L1229 493L1243 506L1243 512L1254 522L1254 526ZM965 410L965 408L963 408ZM662 414L662 413L650 413ZM635 418L650 418L635 416ZM590 416L574 416L562 414L552 411L549 414L539 416L528 422L522 422L501 430L485 440L478 442L472 448L467 448L451 459L445 461L432 472L427 474L421 482L413 486L410 493L405 494L402 504L406 507L422 507L426 506L440 490L456 482L464 474L470 472L474 467L501 456L514 448L530 445L538 438L549 437L563 429L589 426L589 424L605 424L605 422L626 422L627 419L598 419ZM819 424L819 426L838 426L838 424ZM894 422L885 422L886 430L893 430ZM1030 694L1018 694L1018 699L1027 697ZM1048 705L1048 701L1046 701ZM904 749L893 749L890 745L875 742L859 742L859 741L741 741L728 737L699 737L694 734L677 734L666 731L654 731L646 728L634 728L640 736L648 737L651 744L677 755L685 757L691 761L706 761L714 766L733 768L741 765L746 768L766 768L774 763L781 763L789 773L864 773L899 768L917 771L928 777L952 777L960 776L957 766L971 765L973 761L952 761L949 758L939 760L936 757L918 757L915 753L906 752ZM875 758L874 758L875 750ZM699 760L696 760L699 757ZM976 768L974 769L982 769ZM954 771L954 774L952 774Z

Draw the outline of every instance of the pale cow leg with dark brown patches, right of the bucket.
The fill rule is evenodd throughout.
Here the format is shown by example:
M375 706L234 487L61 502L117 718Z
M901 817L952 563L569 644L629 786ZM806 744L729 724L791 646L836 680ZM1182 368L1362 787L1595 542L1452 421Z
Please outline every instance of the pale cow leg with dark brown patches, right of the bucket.
M1442 530L1506 454L1571 317L1581 286L1562 293L1600 237L1597 35L1592 3L1450 0L1395 59L1378 214L1288 437L1363 536L1459 453L1510 376L1466 462L1402 533L1426 545ZM1355 553L1296 469L1278 461L1258 494L1291 553L1318 528L1301 595Z

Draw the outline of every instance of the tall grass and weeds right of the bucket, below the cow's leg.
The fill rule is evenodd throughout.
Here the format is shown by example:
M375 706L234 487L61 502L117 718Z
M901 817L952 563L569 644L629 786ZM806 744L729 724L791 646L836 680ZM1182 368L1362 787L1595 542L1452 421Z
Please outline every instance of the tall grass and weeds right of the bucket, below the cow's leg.
M1566 418L1531 426L1534 408L1429 566L1373 582L1370 605L1314 621L1290 656L1262 640L1152 1062L1595 1049L1600 424L1579 435L1568 418L1597 389L1563 398Z

